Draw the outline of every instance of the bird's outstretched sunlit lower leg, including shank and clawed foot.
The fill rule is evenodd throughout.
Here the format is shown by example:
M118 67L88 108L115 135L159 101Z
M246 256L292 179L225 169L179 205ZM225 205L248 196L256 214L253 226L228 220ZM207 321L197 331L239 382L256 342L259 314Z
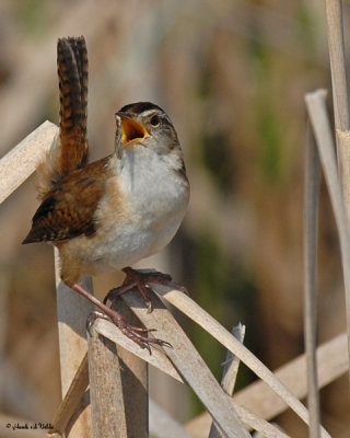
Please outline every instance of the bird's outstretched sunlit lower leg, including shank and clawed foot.
M103 313L100 312L93 312L92 318L95 320L96 318L103 318L105 320L110 321L114 323L122 334L128 336L131 341L133 341L136 344L138 344L141 348L147 348L150 354L151 354L151 348L150 344L155 344L160 346L167 346L171 347L171 344L168 344L165 341L153 338L153 337L148 337L145 336L149 332L152 332L153 330L148 330L148 328L141 328L137 327L135 325L130 325L127 323L126 319L122 316L121 313L117 312L114 309L110 309L108 306L105 303L101 302L97 300L96 297L94 297L92 293L88 292L81 285L73 285L72 289L75 290L78 293L86 298L89 301L91 301L93 304L95 304L98 309L102 310ZM88 328L90 328L92 324L92 319L90 318L88 323Z

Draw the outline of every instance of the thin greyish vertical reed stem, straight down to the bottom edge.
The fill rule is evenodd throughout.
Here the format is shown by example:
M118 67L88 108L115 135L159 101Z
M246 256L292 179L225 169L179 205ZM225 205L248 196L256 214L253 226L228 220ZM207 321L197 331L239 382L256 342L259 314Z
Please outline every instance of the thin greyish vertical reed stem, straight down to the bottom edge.
M317 210L319 196L320 164L317 148L306 132L305 182L304 182L304 339L307 362L307 406L310 413L310 438L318 438L319 395L317 384L316 346L316 258L317 258Z

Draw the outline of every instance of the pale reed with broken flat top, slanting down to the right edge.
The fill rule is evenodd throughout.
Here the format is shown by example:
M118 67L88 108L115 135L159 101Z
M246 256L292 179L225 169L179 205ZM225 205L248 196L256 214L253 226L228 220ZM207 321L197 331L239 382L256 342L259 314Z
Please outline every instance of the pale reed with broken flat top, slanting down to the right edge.
M350 241L342 191L336 162L335 146L326 108L326 95L327 93L325 90L316 90L312 93L307 93L305 95L305 101L339 233L346 295L348 355L350 362Z

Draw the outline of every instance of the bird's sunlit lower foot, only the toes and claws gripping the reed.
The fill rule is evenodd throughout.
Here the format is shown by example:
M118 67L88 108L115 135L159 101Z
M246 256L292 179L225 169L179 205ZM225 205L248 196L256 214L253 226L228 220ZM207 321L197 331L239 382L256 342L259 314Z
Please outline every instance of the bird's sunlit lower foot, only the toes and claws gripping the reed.
M136 325L130 325L127 323L126 319L119 312L109 309L108 314L102 313L98 311L94 311L90 313L88 321L86 321L86 328L89 334L91 335L91 327L93 323L96 321L97 318L112 322L116 325L120 332L138 344L141 348L147 348L152 354L150 344L159 345L161 347L170 347L173 348L172 344L167 343L166 341L159 339L156 337L148 337L150 332L155 332L155 328L142 328Z

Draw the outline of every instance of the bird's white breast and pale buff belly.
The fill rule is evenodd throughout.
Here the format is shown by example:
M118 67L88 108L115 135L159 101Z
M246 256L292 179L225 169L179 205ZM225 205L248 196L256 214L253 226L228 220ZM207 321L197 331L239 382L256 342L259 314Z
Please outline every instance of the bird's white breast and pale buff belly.
M125 208L120 214L116 206L116 215L104 218L103 239L91 239L94 261L86 260L86 264L89 270L93 264L95 273L118 269L161 251L186 212L187 182L168 169L162 157L142 146L127 152L114 177L121 196L116 203L121 201Z

